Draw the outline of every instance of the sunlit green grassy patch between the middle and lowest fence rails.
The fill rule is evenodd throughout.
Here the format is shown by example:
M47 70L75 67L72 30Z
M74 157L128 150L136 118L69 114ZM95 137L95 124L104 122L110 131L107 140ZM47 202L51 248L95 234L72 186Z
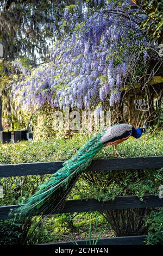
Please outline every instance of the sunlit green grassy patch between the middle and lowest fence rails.
M35 239L37 238L37 243L88 240L90 223L91 239L94 238L95 233L101 233L100 238L115 236L109 223L99 212L80 213L73 218L73 225L65 222L67 215L62 214L46 218L43 222L42 235L40 236L40 230L36 230ZM68 218L70 216L73 217L69 214ZM98 220L97 224L96 219Z

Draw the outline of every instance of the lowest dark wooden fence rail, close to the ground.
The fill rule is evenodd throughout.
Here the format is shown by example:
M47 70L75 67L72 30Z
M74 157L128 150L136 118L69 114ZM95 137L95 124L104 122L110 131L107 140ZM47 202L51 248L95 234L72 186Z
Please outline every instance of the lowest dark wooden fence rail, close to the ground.
M97 246L99 245L145 245L146 236L121 236L99 239ZM92 242L93 240L91 240ZM76 241L78 245L86 245L85 240ZM88 242L89 243L89 242ZM73 242L58 242L58 243L43 243L41 246L62 246L62 245L74 245ZM39 245L37 245L39 246ZM89 246L89 245L87 245Z

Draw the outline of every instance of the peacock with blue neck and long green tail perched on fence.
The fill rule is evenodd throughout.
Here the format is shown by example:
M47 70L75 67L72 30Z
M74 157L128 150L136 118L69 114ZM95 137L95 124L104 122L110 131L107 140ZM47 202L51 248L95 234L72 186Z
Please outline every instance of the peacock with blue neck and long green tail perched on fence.
M65 199L77 181L79 174L91 164L92 158L103 147L112 145L114 154L117 153L121 157L117 145L126 141L130 136L136 139L140 138L146 128L147 124L137 129L130 124L118 124L98 133L76 155L65 161L63 167L55 172L51 178L40 185L36 193L26 199L24 205L16 209L16 215L18 214L21 217L37 214L49 215L59 211L64 206Z

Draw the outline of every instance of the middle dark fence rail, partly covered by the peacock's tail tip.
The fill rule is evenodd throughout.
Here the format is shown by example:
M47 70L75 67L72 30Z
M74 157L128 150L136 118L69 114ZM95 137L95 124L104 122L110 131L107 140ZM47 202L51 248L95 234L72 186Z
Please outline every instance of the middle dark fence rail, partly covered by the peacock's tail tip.
M67 213L67 212L83 212L83 211L104 211L111 209L134 209L134 208L154 208L162 207L163 199L158 196L149 195L143 197L143 201L136 196L124 196L116 197L115 200L109 200L108 202L98 202L95 199L89 200L66 200L64 209L56 213ZM18 205L8 205L0 207L0 220L12 218L8 216L11 209L18 208Z

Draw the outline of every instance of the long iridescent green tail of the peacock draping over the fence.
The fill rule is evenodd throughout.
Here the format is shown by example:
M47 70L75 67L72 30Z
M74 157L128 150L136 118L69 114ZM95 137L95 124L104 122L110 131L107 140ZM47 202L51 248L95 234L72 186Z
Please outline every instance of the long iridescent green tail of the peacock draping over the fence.
M60 210L79 174L91 164L92 157L103 148L104 143L100 139L104 133L105 130L90 139L76 155L64 162L63 167L39 186L36 193L29 197L15 213L26 217L36 214L48 215Z

